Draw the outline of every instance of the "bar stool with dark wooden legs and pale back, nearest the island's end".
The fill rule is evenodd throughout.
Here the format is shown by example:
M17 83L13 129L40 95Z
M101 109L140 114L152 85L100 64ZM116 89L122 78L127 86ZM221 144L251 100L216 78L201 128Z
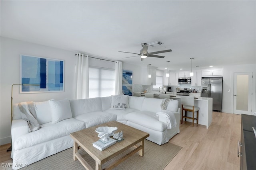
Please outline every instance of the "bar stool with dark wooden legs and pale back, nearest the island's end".
M183 121L183 117L188 119L192 119L192 127L194 127L194 120L196 120L196 124L198 124L198 114L199 107L195 106L195 98L194 96L180 96L181 100L181 124ZM185 111L185 115L183 115L183 110ZM187 116L187 111L192 112L192 117ZM196 118L194 117L194 113L196 111Z

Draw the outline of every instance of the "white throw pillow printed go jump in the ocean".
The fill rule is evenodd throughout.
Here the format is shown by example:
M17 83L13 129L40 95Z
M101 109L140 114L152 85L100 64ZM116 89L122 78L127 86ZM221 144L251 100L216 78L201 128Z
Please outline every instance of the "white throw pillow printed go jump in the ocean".
M126 109L128 103L128 96L112 96L111 109Z

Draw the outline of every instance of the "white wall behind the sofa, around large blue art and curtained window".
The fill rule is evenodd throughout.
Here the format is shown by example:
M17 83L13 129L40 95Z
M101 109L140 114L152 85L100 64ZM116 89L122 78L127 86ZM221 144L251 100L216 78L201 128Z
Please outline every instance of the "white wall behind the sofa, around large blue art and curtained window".
M20 83L20 54L61 59L65 61L64 92L19 94L19 86L13 88L13 103L42 102L52 98L74 98L74 74L77 51L67 51L53 47L0 37L0 145L10 143L11 86ZM115 63L89 58L90 66L115 68ZM122 63L123 69L133 70L133 84L141 84L140 67Z

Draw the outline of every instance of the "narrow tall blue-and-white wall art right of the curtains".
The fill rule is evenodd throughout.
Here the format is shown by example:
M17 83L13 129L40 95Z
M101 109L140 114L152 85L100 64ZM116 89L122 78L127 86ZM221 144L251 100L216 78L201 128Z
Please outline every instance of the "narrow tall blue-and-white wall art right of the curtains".
M122 88L123 94L132 96L132 71L123 70Z

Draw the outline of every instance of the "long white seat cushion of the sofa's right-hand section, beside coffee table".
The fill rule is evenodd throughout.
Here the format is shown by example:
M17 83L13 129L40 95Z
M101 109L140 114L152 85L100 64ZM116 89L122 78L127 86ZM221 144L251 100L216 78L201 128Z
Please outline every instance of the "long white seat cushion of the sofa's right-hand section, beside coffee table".
M155 131L163 132L166 130L166 124L158 121L155 112L152 111L135 111L124 116L127 121L142 125Z

